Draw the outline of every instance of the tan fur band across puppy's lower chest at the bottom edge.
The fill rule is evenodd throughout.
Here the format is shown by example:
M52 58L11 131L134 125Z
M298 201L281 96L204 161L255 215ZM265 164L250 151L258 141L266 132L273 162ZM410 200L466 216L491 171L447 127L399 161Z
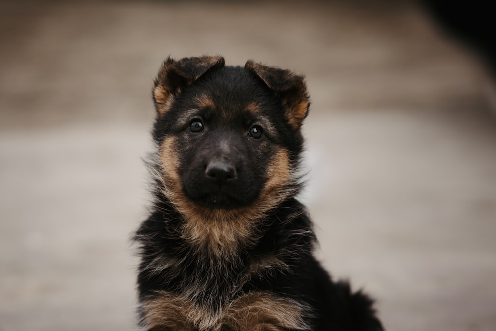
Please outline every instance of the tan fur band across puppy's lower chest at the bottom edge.
M237 331L310 329L304 320L311 313L309 307L267 292L244 294L213 313L186 297L162 291L145 300L141 309L147 329L165 326L184 331L221 331L223 327Z

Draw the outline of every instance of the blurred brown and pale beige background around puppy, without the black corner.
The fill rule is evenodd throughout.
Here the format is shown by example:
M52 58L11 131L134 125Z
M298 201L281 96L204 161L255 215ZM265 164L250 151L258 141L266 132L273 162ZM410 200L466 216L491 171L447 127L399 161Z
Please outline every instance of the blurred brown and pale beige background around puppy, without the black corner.
M388 330L496 330L495 88L414 4L4 1L0 45L0 331L133 329L151 83L200 54L306 74L318 254Z

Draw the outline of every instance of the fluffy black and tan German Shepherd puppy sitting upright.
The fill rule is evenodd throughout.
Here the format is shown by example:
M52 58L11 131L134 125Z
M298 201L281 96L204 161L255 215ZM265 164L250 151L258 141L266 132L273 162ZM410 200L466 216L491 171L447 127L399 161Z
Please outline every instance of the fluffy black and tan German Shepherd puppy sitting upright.
M135 234L140 330L383 330L372 300L312 255L312 222L295 199L304 78L168 58L153 100L154 204Z

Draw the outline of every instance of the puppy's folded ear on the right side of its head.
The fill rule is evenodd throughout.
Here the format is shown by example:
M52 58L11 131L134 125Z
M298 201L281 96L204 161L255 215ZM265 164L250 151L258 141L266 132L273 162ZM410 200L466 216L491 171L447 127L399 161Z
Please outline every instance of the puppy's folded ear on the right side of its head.
M275 93L284 108L288 123L298 130L307 117L310 106L304 77L251 60L247 61L245 68L254 72Z

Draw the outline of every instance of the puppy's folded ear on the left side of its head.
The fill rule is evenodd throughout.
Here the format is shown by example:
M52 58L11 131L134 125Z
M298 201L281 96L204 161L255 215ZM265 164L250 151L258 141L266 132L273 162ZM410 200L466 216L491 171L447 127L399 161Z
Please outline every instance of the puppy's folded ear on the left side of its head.
M192 57L175 61L168 57L154 82L153 102L157 115L165 114L181 89L191 85L212 68L224 66L223 57Z

